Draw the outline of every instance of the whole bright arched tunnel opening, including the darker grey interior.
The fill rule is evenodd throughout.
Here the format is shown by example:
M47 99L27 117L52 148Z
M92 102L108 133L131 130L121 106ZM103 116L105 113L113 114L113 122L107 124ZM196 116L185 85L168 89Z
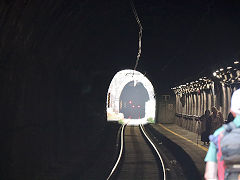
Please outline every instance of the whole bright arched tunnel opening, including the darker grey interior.
M156 100L152 83L138 71L119 71L109 86L106 109L108 121L154 123Z

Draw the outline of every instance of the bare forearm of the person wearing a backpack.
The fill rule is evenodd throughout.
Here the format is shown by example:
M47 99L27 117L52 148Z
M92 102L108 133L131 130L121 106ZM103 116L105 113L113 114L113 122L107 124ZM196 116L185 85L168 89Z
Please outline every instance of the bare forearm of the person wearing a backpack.
M206 180L217 180L217 163L213 161L206 162L204 178Z

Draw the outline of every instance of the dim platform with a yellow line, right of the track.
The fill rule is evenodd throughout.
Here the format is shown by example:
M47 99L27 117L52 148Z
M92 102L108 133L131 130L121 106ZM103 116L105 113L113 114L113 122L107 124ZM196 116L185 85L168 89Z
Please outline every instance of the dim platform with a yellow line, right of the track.
M204 179L204 158L208 151L208 145L203 145L200 135L176 124L155 124L151 126L173 143L180 146L194 162L201 179Z

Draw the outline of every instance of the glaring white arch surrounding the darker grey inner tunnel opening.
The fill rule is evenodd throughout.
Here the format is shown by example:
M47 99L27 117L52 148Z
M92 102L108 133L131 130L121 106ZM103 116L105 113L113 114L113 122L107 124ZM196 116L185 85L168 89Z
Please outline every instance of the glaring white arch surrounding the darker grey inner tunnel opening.
M123 114L119 112L119 99L125 85L134 81L134 85L141 82L146 88L149 100L145 103L145 117L142 119L124 119ZM119 71L112 79L107 93L107 120L123 120L128 124L147 123L149 118L155 121L156 100L152 83L140 72L135 70Z

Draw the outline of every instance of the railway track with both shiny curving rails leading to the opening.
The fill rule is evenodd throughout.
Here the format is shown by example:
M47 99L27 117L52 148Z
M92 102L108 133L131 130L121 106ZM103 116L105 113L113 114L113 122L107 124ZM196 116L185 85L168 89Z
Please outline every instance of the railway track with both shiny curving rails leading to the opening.
M160 153L142 125L121 127L119 156L107 180L166 179Z

